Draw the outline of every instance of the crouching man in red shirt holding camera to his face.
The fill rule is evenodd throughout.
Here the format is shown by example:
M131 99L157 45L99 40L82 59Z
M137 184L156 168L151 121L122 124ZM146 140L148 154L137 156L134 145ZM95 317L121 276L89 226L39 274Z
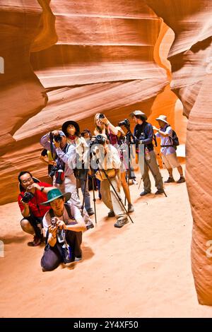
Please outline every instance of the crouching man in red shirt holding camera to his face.
M37 247L43 239L42 218L49 211L49 206L42 206L41 203L47 201L47 192L52 186L33 178L28 171L20 172L18 181L20 186L18 205L23 215L20 226L24 232L34 235L33 242L28 242L28 246Z

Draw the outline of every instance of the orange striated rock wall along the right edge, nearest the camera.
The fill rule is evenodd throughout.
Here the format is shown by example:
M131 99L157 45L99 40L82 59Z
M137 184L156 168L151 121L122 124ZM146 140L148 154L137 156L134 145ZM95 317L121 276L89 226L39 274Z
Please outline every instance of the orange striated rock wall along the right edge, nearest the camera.
M175 32L169 60L172 90L189 117L187 188L194 218L192 271L199 303L212 305L211 126L212 3L146 0Z

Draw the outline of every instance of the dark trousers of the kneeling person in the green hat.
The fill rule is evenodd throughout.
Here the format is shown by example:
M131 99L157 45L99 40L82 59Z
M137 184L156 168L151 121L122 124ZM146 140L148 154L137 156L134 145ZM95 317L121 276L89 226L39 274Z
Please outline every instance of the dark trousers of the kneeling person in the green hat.
M71 247L72 251L71 261L74 261L75 257L82 256L82 251L81 251L82 232L73 232L72 230L66 230L66 242ZM51 247L49 244L47 244L40 262L42 270L52 271L55 268L57 268L57 266L59 266L60 263L63 263L61 244L59 244L58 241L54 245L54 247Z

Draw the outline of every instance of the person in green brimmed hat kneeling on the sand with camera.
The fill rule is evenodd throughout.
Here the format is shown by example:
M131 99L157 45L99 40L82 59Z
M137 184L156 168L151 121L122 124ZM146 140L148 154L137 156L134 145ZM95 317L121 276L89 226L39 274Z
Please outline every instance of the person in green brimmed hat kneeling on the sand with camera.
M46 247L41 259L42 271L52 271L60 263L70 263L82 259L82 232L86 223L81 212L72 203L65 203L71 193L62 194L57 188L47 194L48 201L42 205L50 206L43 218L46 232Z

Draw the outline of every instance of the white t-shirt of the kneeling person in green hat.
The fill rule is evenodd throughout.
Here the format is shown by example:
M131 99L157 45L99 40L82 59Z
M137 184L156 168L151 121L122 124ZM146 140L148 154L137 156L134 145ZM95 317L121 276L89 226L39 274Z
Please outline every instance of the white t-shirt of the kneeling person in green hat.
M68 203L68 204L71 208L71 215L73 215L73 219L69 218L69 215L66 211L65 206L64 206L64 213L61 217L59 217L59 219L63 220L66 225L74 225L74 224L77 223L76 220L82 218L81 211L79 211L79 209L76 206L73 206L72 203ZM44 230L45 230L45 235L47 234L47 230L48 230L49 225L51 225L51 221L52 221L52 218L51 218L51 215L48 211L45 214L44 218L42 219L42 224L43 224L43 227L44 227Z

